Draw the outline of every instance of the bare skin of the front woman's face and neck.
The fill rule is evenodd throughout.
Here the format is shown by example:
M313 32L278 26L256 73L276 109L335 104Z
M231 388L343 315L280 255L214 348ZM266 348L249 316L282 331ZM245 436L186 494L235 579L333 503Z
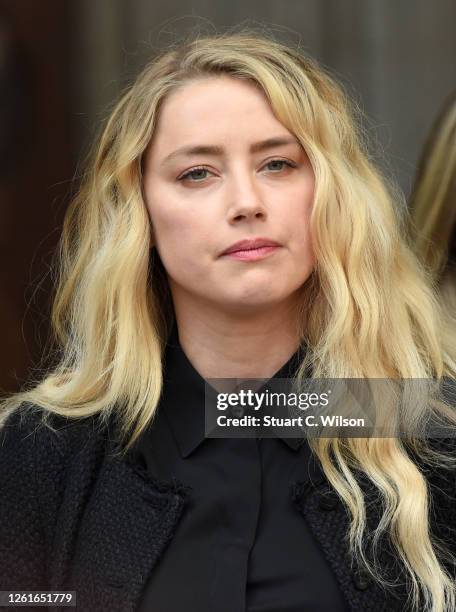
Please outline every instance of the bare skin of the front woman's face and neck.
M251 150L276 137L289 142ZM222 151L169 157L195 145ZM194 81L161 108L144 195L195 369L204 378L272 376L298 348L296 306L314 267L314 174L300 143L252 84L226 75ZM222 255L257 237L279 246L255 261Z

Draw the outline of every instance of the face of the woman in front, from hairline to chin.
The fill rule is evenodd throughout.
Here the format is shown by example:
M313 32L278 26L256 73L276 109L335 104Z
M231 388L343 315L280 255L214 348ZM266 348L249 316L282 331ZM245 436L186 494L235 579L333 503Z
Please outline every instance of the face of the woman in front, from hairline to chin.
M272 138L286 143L254 147ZM201 145L220 151L178 151ZM224 75L172 92L145 157L143 188L175 303L241 313L294 301L314 264L314 174L254 85ZM248 259L222 255L259 237L278 246Z

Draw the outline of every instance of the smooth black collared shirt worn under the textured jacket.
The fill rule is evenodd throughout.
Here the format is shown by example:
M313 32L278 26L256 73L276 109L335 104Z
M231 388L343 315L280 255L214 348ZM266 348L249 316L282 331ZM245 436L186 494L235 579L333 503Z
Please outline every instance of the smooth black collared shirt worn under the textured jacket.
M274 375L293 376L298 350ZM205 438L205 381L174 329L154 422L134 453L155 478L191 487L138 612L343 612L336 579L290 484L309 477L298 438Z

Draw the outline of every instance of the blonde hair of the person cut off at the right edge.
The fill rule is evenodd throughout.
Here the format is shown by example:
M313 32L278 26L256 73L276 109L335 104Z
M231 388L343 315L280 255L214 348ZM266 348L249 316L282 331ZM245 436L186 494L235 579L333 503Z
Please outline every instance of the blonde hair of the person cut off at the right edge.
M415 251L435 278L456 344L456 91L426 139L409 207Z

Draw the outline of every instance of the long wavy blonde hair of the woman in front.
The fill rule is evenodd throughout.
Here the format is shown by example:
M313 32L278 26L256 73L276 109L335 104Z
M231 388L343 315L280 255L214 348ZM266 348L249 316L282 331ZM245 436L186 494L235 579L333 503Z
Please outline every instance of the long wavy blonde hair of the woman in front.
M170 45L112 110L64 220L52 309L57 365L4 399L5 414L22 402L46 415L98 415L103 422L115 413L125 451L153 419L173 315L166 275L150 252L142 159L167 95L194 79L226 74L264 91L315 173L317 263L303 290L301 330L313 376L454 378L455 347L442 334L432 279L409 244L403 196L375 169L355 120L359 109L299 47L242 28ZM417 420L428 416L423 406ZM456 424L451 411L447 417ZM450 459L424 440L408 442L437 469L448 467ZM453 610L444 549L429 530L427 482L403 440L334 437L309 444L349 511L351 554L385 583L364 550L359 471L381 495L384 513L374 540L389 535L407 570L414 609Z

